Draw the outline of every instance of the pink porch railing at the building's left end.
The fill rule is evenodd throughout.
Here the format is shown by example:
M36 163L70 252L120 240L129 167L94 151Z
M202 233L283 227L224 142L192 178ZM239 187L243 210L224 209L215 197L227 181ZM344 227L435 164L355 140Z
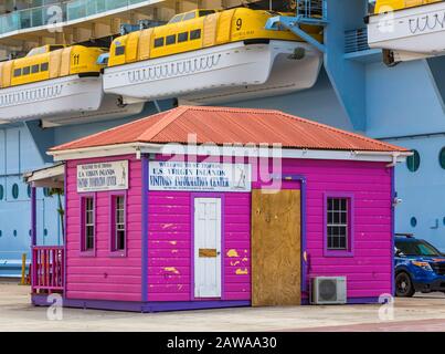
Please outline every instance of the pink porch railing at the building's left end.
M64 278L63 247L33 247L32 292L61 292Z

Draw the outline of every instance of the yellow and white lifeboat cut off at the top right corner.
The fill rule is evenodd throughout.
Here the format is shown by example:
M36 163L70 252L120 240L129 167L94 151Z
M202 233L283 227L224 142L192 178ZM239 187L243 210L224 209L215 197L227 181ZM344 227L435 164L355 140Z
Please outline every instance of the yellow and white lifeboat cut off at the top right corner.
M370 48L384 49L389 64L445 53L445 1L378 0L369 17Z

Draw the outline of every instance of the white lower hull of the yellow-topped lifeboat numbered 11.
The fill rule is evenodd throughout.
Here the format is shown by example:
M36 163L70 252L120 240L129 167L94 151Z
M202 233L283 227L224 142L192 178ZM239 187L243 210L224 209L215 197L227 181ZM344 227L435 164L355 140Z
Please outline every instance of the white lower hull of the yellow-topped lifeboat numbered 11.
M92 123L138 114L144 103L105 95L102 77L67 76L0 91L0 122L42 119L50 125Z

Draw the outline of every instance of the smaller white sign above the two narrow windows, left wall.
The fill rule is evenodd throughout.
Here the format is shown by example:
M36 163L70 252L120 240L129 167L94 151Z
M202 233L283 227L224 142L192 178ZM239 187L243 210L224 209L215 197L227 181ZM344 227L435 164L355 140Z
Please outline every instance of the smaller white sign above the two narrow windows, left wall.
M77 165L77 192L128 189L128 160Z

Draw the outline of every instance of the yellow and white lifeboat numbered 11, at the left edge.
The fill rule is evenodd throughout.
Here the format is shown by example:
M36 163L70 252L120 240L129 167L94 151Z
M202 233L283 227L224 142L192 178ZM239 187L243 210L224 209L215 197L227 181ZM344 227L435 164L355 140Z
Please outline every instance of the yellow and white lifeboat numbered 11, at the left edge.
M24 58L1 62L0 121L97 115L105 103L104 66L97 59L105 52L83 45L43 45Z

